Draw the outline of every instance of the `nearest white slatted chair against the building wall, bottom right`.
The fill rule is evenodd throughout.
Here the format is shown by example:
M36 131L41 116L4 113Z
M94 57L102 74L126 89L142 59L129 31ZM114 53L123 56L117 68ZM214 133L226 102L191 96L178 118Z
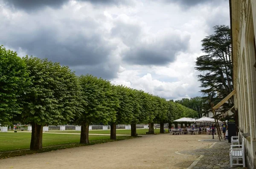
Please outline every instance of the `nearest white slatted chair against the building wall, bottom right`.
M245 158L244 158L244 138L242 140L241 145L230 145L230 167L233 167L233 165L237 166L243 166L245 167ZM242 146L241 149L237 149L235 147L240 147ZM239 159L242 159L242 163L239 164ZM233 163L233 160L236 160L236 163Z

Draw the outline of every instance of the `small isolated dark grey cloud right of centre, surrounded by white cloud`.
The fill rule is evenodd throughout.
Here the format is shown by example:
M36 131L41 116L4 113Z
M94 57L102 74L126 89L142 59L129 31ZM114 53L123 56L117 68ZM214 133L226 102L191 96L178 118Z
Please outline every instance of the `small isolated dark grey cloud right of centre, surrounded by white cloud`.
M154 40L152 40L154 41ZM189 36L182 39L178 36L168 36L153 43L140 43L132 46L124 53L123 60L137 65L167 65L174 62L178 52L186 51L189 46Z

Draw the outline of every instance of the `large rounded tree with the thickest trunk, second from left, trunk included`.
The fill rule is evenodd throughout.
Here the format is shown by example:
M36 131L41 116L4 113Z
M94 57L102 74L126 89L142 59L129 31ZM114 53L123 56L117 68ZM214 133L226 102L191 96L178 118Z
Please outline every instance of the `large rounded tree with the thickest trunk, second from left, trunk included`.
M80 111L79 83L67 66L37 57L26 56L23 60L31 85L23 95L21 120L32 124L30 149L41 149L43 126L68 123Z

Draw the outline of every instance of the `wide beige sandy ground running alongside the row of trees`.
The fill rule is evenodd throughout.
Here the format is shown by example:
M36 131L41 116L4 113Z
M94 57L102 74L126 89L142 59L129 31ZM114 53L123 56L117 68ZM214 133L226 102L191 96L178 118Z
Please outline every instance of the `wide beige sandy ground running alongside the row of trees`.
M198 156L179 150L209 147L207 135L143 137L0 160L0 169L186 169Z

